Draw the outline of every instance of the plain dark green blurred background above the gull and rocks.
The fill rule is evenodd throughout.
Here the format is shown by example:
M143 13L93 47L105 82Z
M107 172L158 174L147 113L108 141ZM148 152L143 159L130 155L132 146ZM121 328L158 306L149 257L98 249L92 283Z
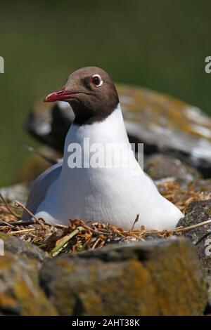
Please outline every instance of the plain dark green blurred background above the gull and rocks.
M86 65L165 91L211 114L211 1L0 1L0 186L27 157L17 144L37 99Z

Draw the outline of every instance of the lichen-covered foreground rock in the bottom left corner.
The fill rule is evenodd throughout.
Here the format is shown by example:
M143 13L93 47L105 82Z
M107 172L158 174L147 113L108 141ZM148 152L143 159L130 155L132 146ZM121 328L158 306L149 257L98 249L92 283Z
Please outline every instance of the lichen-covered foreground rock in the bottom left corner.
M39 286L44 253L16 237L0 237L5 243L0 256L0 315L57 315Z

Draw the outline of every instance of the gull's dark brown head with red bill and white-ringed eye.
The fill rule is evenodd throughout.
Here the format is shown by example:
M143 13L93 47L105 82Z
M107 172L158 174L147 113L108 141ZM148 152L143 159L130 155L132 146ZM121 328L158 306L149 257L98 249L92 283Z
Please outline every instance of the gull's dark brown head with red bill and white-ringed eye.
M99 67L83 67L68 77L65 86L45 98L45 102L70 103L77 125L103 121L119 103L113 80Z

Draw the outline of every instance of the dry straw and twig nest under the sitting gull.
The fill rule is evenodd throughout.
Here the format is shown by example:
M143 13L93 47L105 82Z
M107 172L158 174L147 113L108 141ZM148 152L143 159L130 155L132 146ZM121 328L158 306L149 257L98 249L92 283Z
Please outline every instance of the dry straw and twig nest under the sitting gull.
M158 189L162 196L169 199L181 211L185 211L192 201L211 199L210 193L197 192L194 184L190 184L185 190L175 181L160 181ZM137 230L134 229L135 223L139 220L139 215L137 215L132 229L127 231L110 224L85 223L82 220L70 220L70 225L65 226L46 223L43 219L36 218L19 202L9 205L1 195L0 199L0 232L36 244L51 257L58 256L60 253L101 249L112 242L143 241L152 234L163 238L182 235L184 230L211 222L207 220L197 225L177 227L173 230L145 230L143 226ZM23 223L21 220L23 209L31 214L32 220Z

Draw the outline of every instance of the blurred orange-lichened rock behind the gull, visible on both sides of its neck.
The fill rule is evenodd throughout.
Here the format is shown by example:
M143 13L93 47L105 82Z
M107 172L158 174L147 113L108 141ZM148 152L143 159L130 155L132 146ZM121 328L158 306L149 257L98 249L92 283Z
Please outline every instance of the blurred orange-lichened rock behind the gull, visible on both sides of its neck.
M198 107L146 88L119 84L117 91L131 143L144 143L146 154L168 152L210 177L211 119L206 114ZM67 103L40 103L30 112L25 128L63 152L72 121Z

